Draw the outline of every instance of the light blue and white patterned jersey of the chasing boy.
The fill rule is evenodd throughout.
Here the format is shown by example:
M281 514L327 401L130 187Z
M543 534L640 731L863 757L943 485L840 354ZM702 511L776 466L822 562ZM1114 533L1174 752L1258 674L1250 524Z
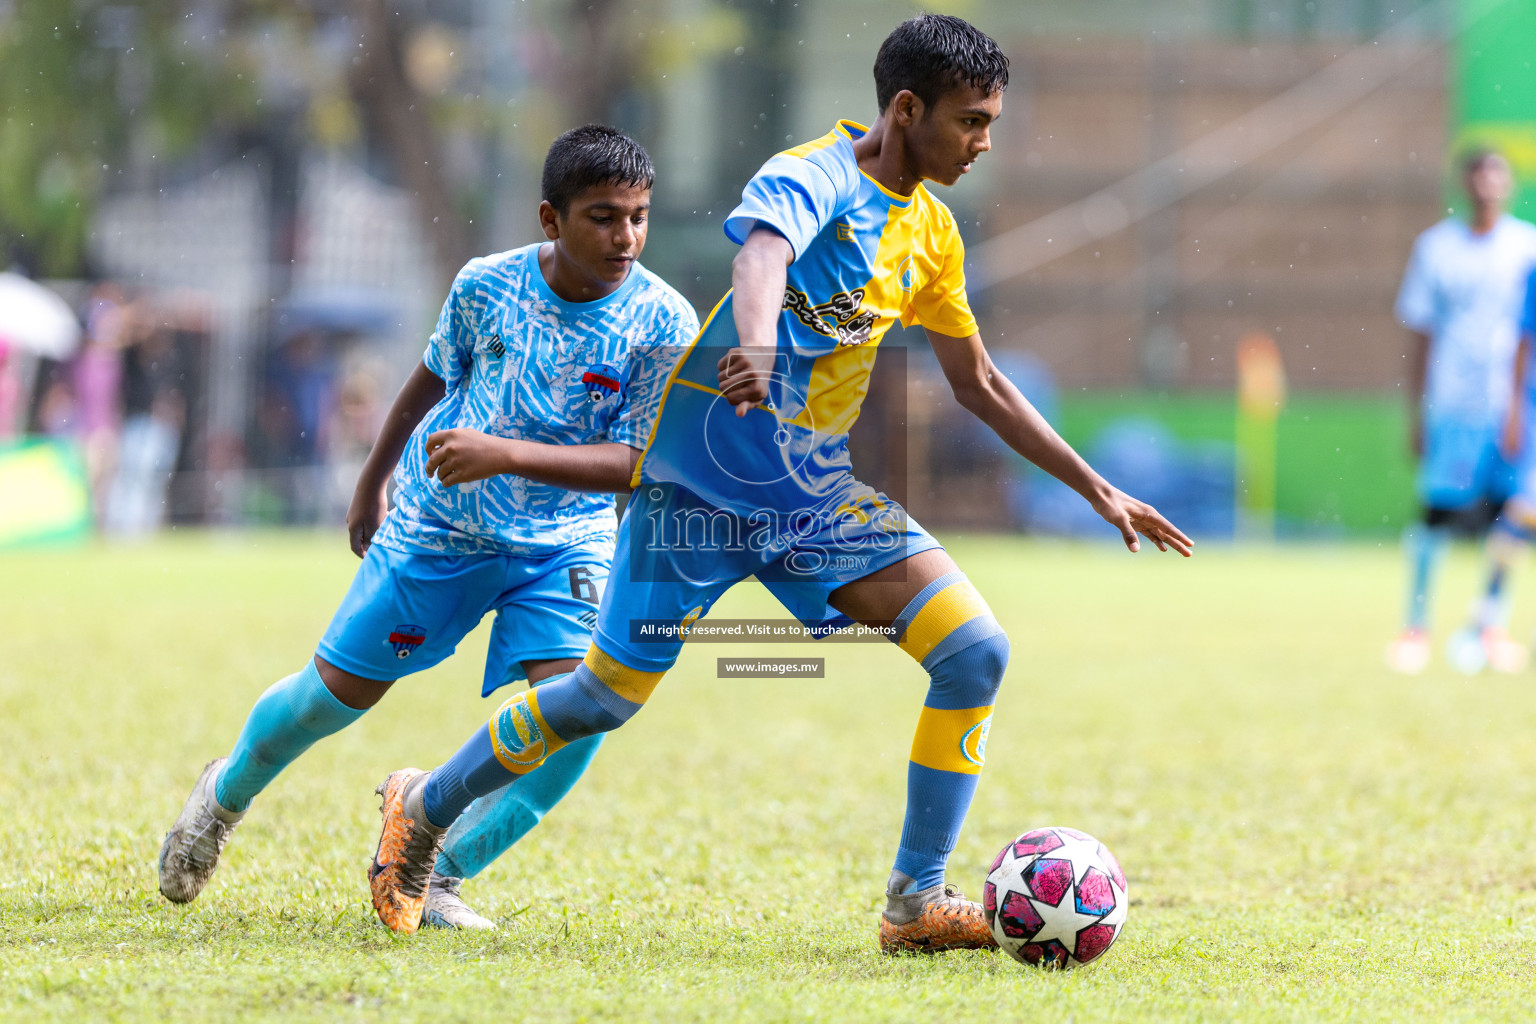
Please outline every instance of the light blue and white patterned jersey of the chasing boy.
M499 438L644 448L677 353L699 333L693 307L634 264L613 295L567 302L539 270L539 246L472 259L453 281L422 362L447 395L395 468L395 508L375 543L399 551L548 554L613 534L613 496L521 476L444 487L424 441L473 427Z

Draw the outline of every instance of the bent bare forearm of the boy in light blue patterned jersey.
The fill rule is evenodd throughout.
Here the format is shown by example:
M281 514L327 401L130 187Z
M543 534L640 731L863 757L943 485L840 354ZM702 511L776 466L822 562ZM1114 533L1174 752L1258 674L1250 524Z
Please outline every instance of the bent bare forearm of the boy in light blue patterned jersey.
M617 441L599 444L544 444L495 438L470 427L427 434L427 476L444 487L490 476L522 476L568 491L619 494L630 491L639 448Z

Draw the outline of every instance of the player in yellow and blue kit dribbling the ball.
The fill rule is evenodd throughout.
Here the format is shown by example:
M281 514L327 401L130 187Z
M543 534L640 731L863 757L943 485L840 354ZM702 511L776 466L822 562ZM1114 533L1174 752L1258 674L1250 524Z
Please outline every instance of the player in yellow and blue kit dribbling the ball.
M982 347L955 221L922 183L952 184L989 147L1008 58L960 18L922 15L885 40L874 75L871 127L840 121L774 157L727 218L742 244L734 287L668 381L582 665L508 700L436 771L404 769L379 788L370 883L390 927L415 929L410 894L464 806L627 722L687 626L756 576L808 625L894 623L931 677L882 949L994 944L982 909L945 884L945 863L985 760L1008 639L937 540L852 474L848 430L880 338L897 319L922 324L960 402L1077 488L1132 551L1137 531L1184 554L1189 539L1094 473Z

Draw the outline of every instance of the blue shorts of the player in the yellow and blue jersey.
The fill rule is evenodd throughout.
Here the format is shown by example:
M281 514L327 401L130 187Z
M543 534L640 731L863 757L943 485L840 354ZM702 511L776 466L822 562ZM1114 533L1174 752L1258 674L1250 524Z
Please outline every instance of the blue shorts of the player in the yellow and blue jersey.
M756 576L790 614L811 628L852 622L826 603L833 591L920 551L940 548L899 504L862 488L836 513L737 516L674 484L647 484L619 524L619 583L602 596L593 643L622 665L664 672L677 660L676 629Z

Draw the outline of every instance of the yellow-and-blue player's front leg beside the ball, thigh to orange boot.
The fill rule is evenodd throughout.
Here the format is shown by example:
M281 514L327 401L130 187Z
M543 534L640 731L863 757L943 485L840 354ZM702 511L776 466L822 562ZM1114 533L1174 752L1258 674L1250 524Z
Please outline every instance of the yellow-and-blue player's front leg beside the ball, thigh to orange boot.
M945 884L945 864L986 757L1008 637L965 573L929 548L836 590L856 622L895 623L897 643L928 672L906 766L906 818L880 918L885 952L995 946L982 907Z

